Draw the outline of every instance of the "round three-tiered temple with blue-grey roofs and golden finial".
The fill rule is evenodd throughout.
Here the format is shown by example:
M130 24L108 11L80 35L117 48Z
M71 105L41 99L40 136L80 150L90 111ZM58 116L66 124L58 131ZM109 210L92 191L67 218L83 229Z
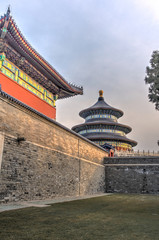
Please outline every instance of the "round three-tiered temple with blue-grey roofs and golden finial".
M104 101L102 90L99 91L98 101L92 107L82 110L79 115L85 119L85 123L74 126L72 130L94 143L100 146L110 144L117 151L131 151L137 145L136 141L126 137L132 129L118 123L123 112Z

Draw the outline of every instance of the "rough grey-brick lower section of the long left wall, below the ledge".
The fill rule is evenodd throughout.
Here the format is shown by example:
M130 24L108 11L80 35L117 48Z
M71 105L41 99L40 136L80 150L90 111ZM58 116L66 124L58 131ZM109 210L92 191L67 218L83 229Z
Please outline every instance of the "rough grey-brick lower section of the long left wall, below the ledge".
M104 166L5 136L0 199L46 199L105 191Z

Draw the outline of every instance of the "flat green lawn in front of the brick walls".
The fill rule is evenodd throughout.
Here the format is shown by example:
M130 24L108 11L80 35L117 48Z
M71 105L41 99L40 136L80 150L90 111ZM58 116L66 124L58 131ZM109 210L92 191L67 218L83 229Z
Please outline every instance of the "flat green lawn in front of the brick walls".
M158 240L159 196L104 197L0 213L0 240Z

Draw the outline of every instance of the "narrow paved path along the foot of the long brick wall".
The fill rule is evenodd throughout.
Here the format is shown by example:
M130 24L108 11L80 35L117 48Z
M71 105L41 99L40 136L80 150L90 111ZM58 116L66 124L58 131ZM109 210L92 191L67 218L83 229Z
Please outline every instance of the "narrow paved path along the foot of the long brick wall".
M87 196L77 196L77 197L56 197L53 199L46 199L46 200L34 200L34 201L25 201L25 202L12 202L7 204L0 205L0 212L15 210L20 208L27 208L27 207L49 207L49 204L59 203L59 202L69 202L74 200L80 199L87 199L87 198L94 198L94 197L102 197L110 195L110 193L101 193L95 195L87 195Z

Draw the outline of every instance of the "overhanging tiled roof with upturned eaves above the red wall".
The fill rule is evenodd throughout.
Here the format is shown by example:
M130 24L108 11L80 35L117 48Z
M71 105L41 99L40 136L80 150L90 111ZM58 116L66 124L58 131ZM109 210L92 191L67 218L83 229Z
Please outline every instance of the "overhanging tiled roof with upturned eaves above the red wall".
M23 65L23 69L27 69L32 76L36 75L35 80L52 94L58 95L58 99L83 94L82 87L68 83L30 45L10 15L10 6L7 13L0 18L0 53L2 52L16 65ZM35 70L38 71L37 74Z

